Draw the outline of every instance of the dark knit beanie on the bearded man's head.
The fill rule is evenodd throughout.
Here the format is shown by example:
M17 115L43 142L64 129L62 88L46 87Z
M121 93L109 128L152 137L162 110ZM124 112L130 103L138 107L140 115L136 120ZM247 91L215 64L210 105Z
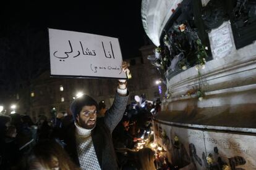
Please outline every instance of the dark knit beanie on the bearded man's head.
M73 119L75 120L75 118L77 117L77 115L80 113L80 111L84 106L92 106L92 105L95 105L96 110L98 111L98 103L94 99L92 99L92 97L90 97L89 95L83 94L81 97L75 99L70 105L70 110L72 112Z

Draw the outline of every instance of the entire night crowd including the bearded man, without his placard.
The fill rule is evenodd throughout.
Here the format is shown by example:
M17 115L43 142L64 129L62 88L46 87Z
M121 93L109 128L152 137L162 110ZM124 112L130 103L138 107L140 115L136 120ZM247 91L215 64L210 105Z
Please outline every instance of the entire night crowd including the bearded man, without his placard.
M122 70L129 75L127 63ZM153 105L127 105L126 84L118 80L110 108L83 94L70 114L40 115L36 123L19 113L0 115L0 169L156 169L153 150L134 150L147 136Z

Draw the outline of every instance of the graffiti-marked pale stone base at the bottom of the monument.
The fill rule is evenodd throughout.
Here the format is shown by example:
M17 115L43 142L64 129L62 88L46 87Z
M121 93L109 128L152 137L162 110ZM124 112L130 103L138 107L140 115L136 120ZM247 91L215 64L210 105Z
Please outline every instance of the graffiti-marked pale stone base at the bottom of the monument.
M178 168L256 169L255 136L173 127L157 123L156 142ZM159 131L160 130L160 131Z

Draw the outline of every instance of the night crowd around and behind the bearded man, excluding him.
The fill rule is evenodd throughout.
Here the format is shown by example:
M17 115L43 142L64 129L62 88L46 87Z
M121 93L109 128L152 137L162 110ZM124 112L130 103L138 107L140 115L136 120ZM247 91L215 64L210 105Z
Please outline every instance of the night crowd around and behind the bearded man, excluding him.
M105 113L108 111L105 103L101 101L93 104L98 107L98 121L105 118ZM80 103L75 103L75 107L78 105ZM150 130L152 116L150 110L156 107L157 105L147 102L144 107L139 103L126 106L121 121L112 133L117 155L117 159L113 158L113 160L118 163L118 168L156 169L154 152L150 148L134 150L135 144L142 140L146 131ZM36 123L33 123L28 115L19 113L1 115L0 169L80 169L80 164L70 158L72 154L70 156L64 149L68 143L65 134L74 124L72 112L74 113L75 110L69 114L56 113L51 119L40 115Z

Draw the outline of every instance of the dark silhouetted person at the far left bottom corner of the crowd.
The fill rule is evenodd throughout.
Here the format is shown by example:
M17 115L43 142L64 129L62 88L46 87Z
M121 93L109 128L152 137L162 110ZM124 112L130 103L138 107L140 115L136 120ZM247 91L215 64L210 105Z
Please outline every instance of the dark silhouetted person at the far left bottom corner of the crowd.
M13 169L17 165L17 161L19 161L20 152L16 136L16 127L9 126L4 136L4 143L0 146L0 169Z

